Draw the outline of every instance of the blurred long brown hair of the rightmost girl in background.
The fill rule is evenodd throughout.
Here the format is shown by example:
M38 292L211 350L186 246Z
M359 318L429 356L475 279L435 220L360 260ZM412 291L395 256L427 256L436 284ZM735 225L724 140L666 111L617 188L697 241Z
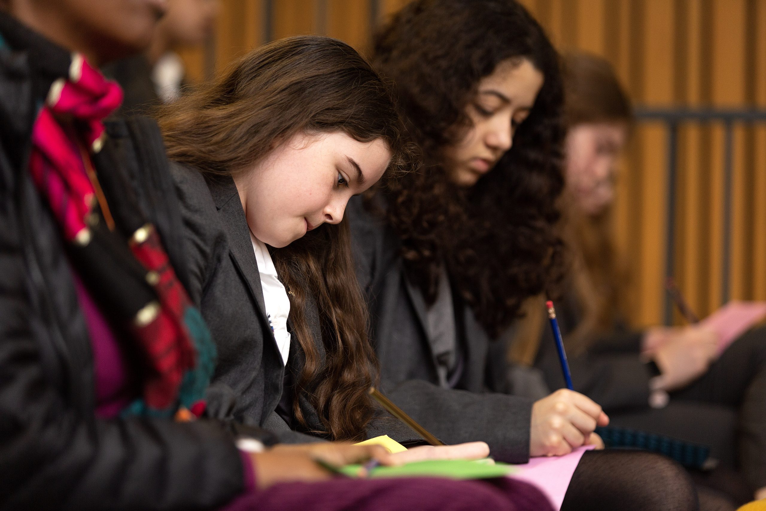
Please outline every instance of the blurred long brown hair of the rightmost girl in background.
M566 54L562 63L567 129L581 124L612 123L630 127L633 109L614 68L592 54ZM613 208L586 215L574 197L565 193L562 223L573 264L563 287L575 298L581 319L564 337L567 352L586 351L600 334L613 329L625 310L625 291L630 275L614 246ZM543 296L525 303L525 319L519 322L511 343L510 359L533 365L545 326Z

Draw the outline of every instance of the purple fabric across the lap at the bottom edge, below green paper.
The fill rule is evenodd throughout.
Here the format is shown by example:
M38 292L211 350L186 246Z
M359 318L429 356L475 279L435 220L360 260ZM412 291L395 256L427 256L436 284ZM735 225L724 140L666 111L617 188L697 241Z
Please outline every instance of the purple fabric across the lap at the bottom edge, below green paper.
M244 494L225 511L552 511L529 483L508 478L456 481L430 477L281 483Z

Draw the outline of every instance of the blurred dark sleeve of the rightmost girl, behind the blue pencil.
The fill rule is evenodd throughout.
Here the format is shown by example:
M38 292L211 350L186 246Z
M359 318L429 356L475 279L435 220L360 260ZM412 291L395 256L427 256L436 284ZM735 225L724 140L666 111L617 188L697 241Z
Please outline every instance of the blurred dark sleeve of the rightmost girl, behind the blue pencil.
M650 371L640 359L639 332L613 332L581 355L568 355L575 391L596 401L605 411L647 408ZM549 388L564 388L561 364L550 328L544 330L535 367Z

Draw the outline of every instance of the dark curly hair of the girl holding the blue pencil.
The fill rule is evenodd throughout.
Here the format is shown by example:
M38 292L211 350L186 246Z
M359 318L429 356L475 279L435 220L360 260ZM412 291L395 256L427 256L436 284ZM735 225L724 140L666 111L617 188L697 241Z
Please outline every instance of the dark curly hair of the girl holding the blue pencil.
M509 59L528 59L544 84L512 149L476 185L460 188L447 175L444 149L470 128L466 105L480 80ZM554 289L563 273L558 54L513 0L415 0L376 34L373 62L394 81L425 163L384 194L408 278L433 303L446 264L453 286L496 337L525 298Z

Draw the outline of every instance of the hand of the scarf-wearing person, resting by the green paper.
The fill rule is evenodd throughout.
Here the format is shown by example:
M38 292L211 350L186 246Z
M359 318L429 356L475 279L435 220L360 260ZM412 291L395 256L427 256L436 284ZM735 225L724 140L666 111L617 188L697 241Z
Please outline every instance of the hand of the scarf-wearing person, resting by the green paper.
M329 480L335 474L316 463L342 467L375 458L381 465L391 465L391 454L379 445L352 445L334 442L318 444L277 445L262 453L250 454L258 488L296 481Z

